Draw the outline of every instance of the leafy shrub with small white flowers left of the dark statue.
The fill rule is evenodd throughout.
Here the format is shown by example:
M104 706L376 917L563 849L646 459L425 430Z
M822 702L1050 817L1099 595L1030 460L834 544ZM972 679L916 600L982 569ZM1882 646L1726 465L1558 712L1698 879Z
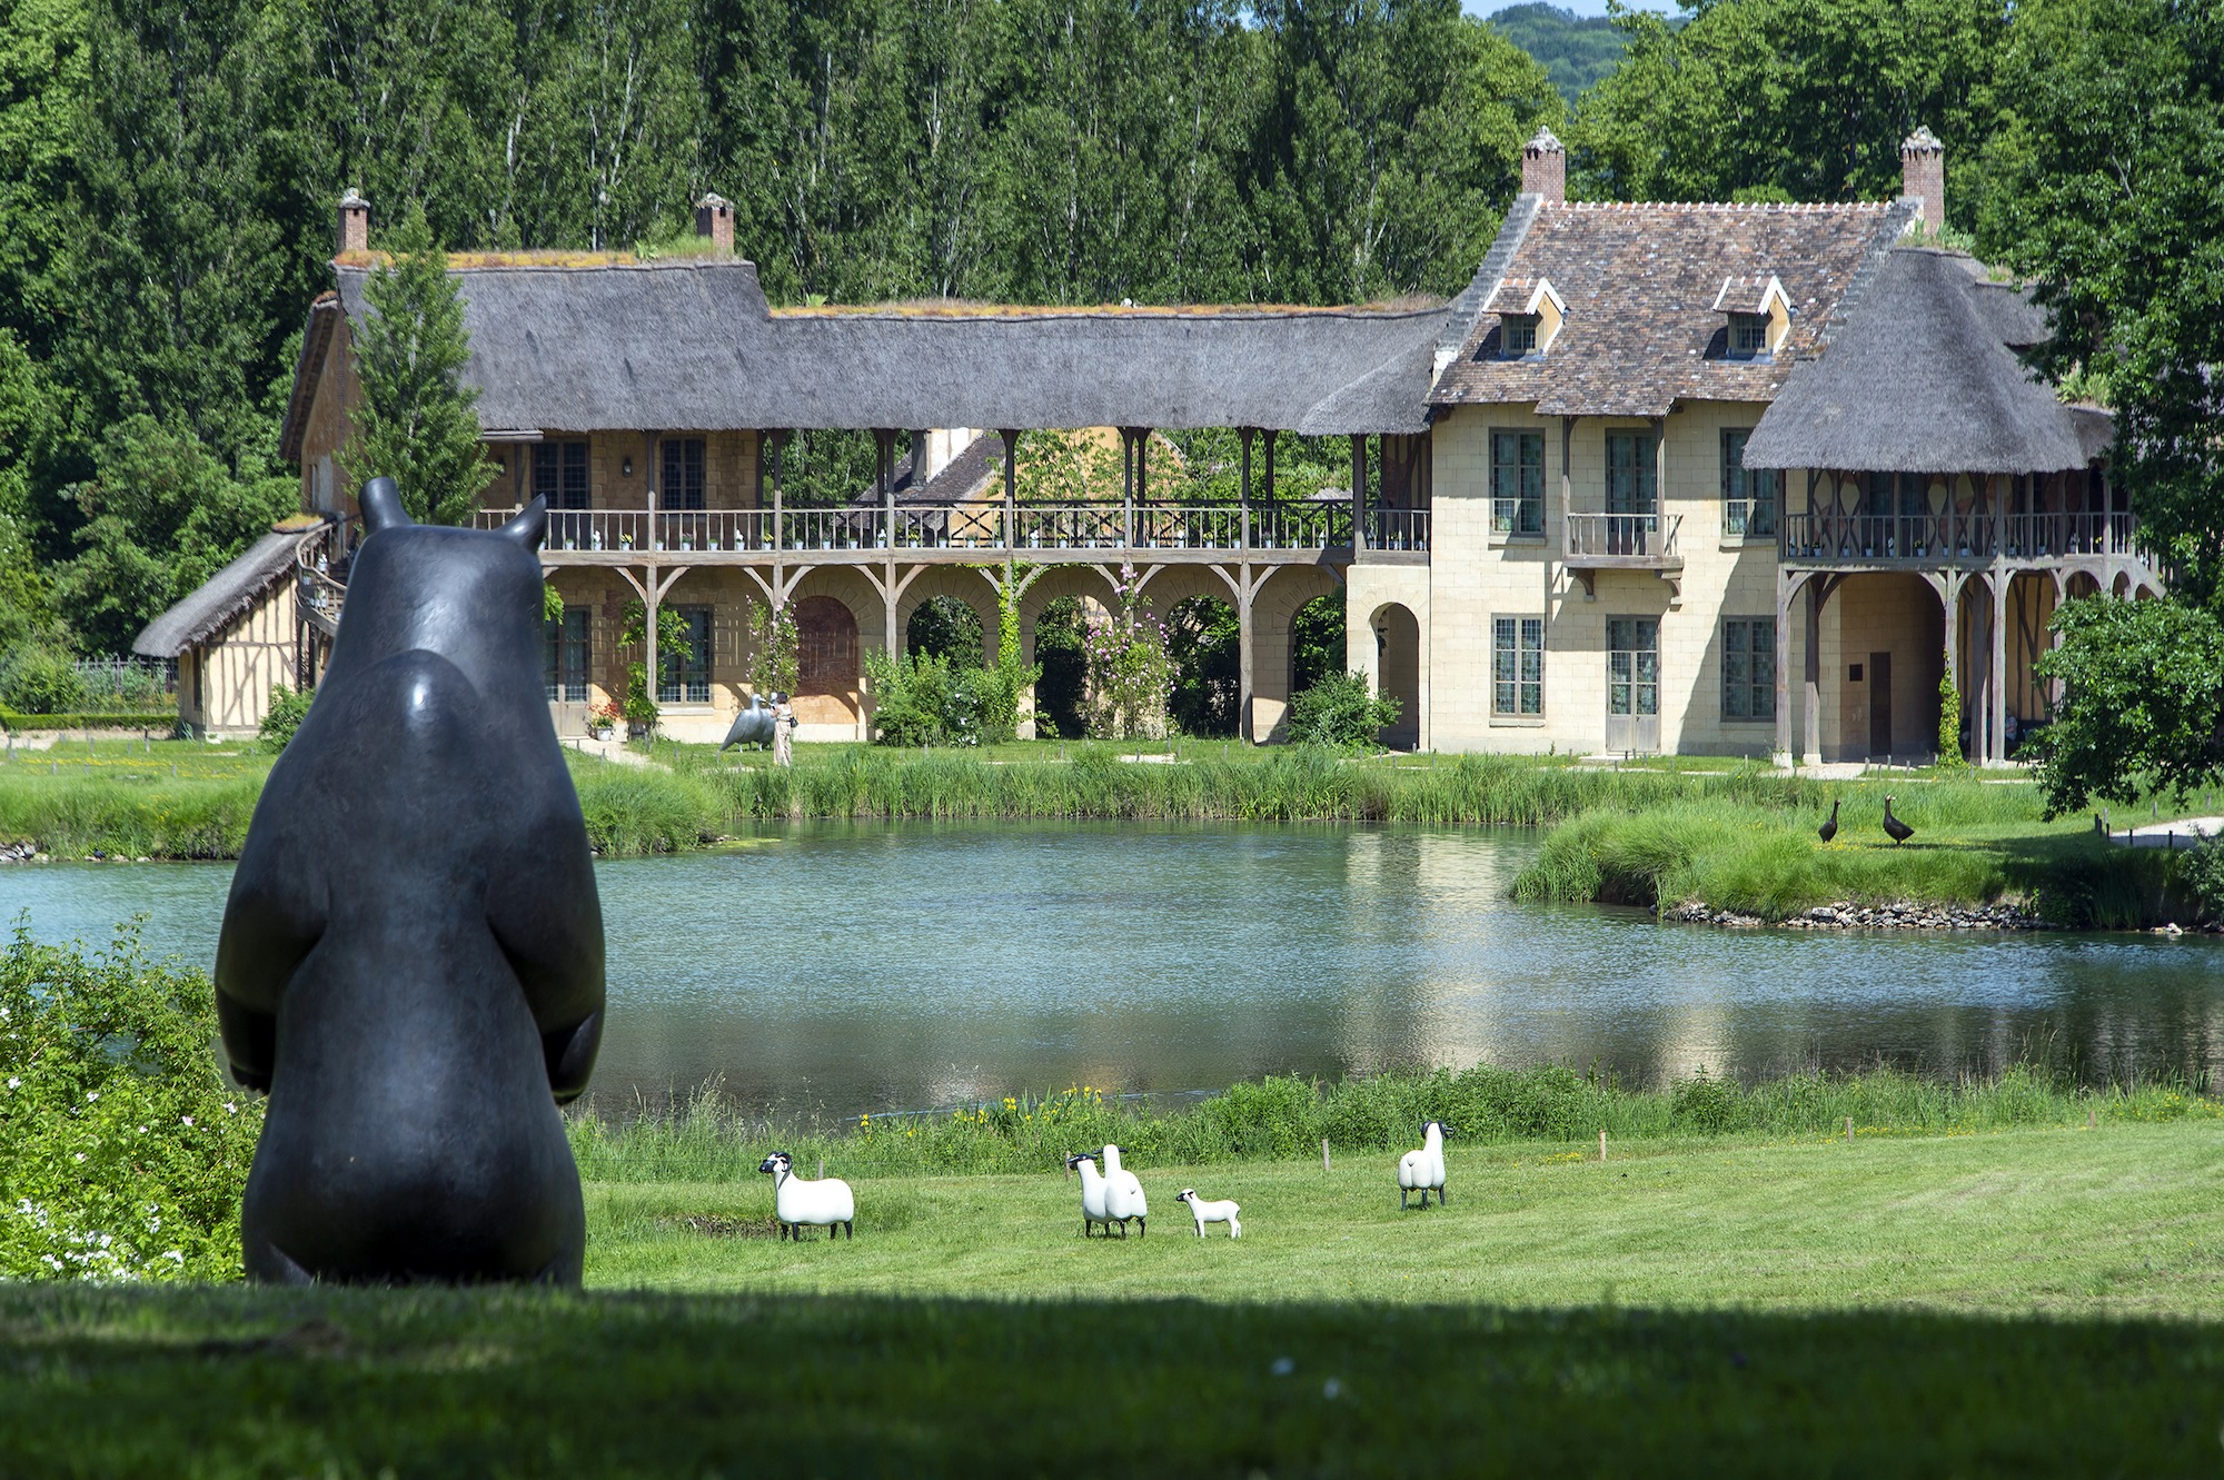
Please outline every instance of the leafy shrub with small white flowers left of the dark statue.
M16 927L0 953L0 1278L234 1280L262 1102L216 1067L198 971Z

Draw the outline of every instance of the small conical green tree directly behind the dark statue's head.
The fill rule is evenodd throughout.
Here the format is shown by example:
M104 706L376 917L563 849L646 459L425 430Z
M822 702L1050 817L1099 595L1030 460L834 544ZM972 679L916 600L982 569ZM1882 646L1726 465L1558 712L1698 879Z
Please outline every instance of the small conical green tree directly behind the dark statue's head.
M363 296L371 313L356 327L363 402L340 462L349 484L394 478L409 518L463 524L478 507L492 464L478 440L478 389L463 384L469 333L447 253L414 207Z

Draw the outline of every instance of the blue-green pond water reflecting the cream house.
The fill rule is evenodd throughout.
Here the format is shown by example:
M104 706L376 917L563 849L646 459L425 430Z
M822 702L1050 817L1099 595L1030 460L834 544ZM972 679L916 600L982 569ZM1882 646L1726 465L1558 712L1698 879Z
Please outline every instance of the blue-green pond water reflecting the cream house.
M2224 1067L2224 944L1661 927L1515 904L1523 831L805 824L600 867L594 1093L723 1080L823 1116L1023 1089L1219 1089L1410 1064L1646 1084L2044 1058L2088 1080ZM229 867L0 871L0 913L207 967Z

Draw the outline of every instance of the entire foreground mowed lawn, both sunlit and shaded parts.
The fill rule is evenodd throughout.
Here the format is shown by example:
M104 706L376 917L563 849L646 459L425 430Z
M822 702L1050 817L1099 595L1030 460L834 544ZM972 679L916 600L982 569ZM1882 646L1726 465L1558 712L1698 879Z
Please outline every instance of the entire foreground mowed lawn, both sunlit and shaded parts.
M2213 1476L2215 1142L1454 1142L1403 1216L1381 1156L1139 1167L1125 1244L1056 1171L838 1244L600 1182L585 1296L0 1287L0 1473Z

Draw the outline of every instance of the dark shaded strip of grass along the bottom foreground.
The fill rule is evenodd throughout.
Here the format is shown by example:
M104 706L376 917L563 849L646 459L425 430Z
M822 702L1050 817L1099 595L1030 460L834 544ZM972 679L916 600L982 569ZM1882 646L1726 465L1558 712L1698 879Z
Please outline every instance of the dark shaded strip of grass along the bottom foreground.
M0 1362L11 1476L2208 1473L2224 1416L2224 1327L1908 1311L13 1287Z

